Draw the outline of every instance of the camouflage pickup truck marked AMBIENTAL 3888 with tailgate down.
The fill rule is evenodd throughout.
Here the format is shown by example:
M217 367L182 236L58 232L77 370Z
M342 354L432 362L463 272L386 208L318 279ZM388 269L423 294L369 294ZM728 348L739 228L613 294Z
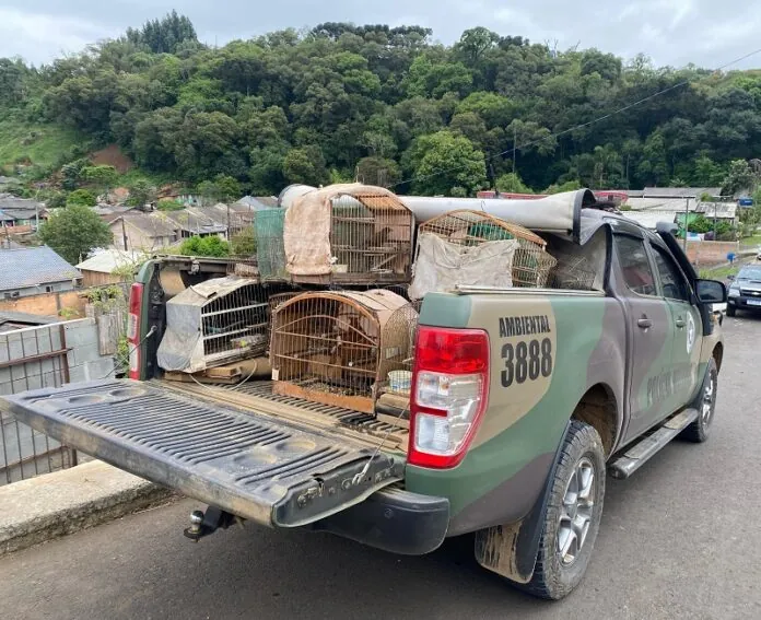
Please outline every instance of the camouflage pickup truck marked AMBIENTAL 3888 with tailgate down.
M678 435L709 437L724 354L711 312L724 284L698 278L669 226L645 230L588 197L574 198L567 225L534 230L592 258L592 290L425 296L407 424L276 395L270 381L165 381L167 300L230 268L183 257L149 260L131 286L130 378L7 396L7 407L208 504L185 530L194 540L235 520L400 554L472 535L482 566L562 598L588 565L606 473L628 478Z

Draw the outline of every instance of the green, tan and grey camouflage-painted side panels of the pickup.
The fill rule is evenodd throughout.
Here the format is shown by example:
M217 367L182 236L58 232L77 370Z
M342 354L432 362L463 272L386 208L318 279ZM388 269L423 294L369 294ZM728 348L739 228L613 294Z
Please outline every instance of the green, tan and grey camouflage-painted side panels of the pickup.
M694 398L721 330L704 337L698 308L630 291L617 260L610 271L616 296L526 289L426 296L422 325L485 329L491 347L488 408L464 460L449 470L407 466L408 490L449 500L449 535L526 516L590 388L602 386L616 402L616 447ZM652 328L637 325L643 314ZM539 356L520 377L518 346L529 364Z

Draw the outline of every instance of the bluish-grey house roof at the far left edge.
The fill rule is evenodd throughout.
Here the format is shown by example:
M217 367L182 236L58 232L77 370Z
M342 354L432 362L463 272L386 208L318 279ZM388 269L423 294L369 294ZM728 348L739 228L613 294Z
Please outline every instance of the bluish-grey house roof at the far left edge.
M0 249L0 291L28 289L81 277L77 268L45 245Z

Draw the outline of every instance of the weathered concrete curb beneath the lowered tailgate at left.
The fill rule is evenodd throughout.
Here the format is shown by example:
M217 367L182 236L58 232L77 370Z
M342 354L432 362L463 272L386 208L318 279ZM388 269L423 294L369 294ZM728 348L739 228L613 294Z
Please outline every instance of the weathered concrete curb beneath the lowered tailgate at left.
M0 487L0 557L173 498L99 460Z

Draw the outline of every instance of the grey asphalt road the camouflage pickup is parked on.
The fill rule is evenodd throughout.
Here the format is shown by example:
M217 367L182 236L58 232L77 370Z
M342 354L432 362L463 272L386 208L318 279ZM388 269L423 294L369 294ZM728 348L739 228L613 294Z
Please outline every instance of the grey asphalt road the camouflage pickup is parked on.
M198 545L195 502L0 560L0 618L761 618L761 318L726 319L712 437L608 479L587 576L560 603L478 568L468 540L424 558L254 526Z

